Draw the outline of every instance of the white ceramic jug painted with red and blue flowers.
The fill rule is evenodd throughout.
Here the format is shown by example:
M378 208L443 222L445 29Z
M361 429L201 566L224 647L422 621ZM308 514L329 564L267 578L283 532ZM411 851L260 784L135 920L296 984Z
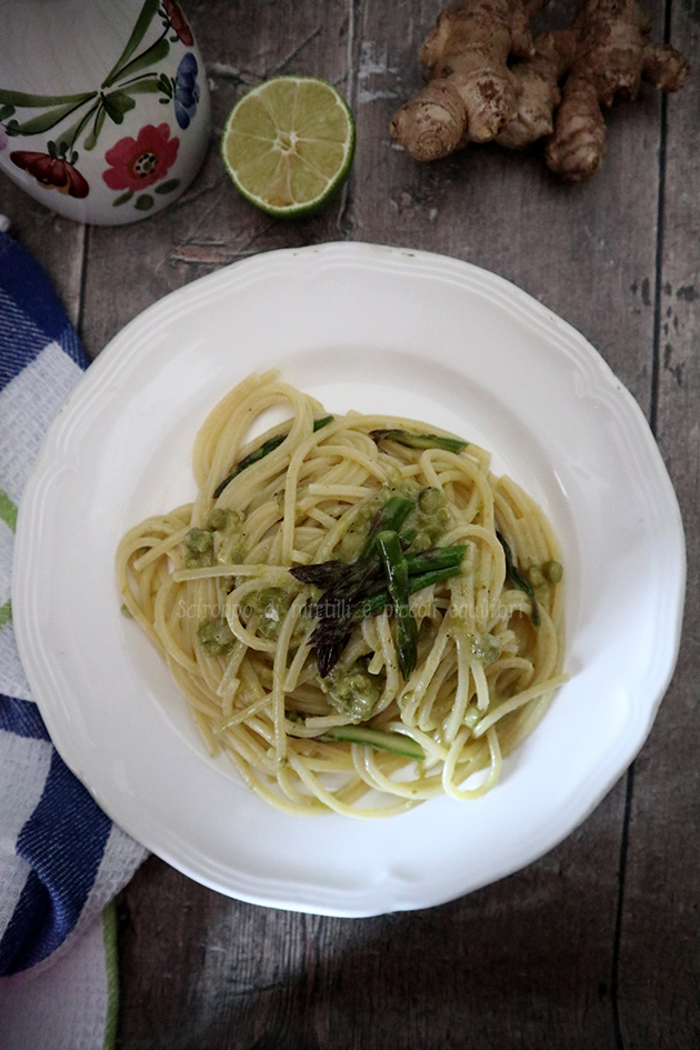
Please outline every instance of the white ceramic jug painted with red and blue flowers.
M0 169L82 222L146 218L209 141L201 56L176 0L0 0Z

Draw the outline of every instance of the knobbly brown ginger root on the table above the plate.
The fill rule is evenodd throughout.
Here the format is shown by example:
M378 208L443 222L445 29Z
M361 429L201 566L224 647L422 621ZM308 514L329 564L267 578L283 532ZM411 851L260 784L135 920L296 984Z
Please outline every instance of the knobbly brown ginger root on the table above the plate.
M420 59L429 82L394 113L392 136L417 160L496 139L519 149L547 138L558 174L597 174L602 107L633 100L642 79L677 91L690 73L674 48L649 41L638 0L581 0L572 24L532 41L547 0L464 0L438 18Z

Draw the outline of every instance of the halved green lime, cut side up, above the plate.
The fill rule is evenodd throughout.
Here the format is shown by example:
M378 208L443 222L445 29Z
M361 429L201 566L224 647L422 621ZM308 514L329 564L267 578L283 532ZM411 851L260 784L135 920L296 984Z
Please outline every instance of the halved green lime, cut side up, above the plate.
M231 110L221 154L236 188L271 216L316 211L352 161L354 121L323 80L277 77Z

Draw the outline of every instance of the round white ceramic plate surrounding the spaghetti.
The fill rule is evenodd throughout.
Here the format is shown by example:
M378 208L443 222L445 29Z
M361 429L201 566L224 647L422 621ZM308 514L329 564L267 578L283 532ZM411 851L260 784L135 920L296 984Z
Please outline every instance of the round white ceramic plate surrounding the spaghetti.
M380 821L278 813L207 756L160 659L120 616L120 537L193 496L198 427L271 364L331 412L409 416L479 441L553 521L571 680L480 801ZM673 489L641 411L593 348L492 273L344 243L228 267L110 343L27 488L13 608L57 748L126 831L229 896L368 916L501 878L587 817L649 732L683 591Z

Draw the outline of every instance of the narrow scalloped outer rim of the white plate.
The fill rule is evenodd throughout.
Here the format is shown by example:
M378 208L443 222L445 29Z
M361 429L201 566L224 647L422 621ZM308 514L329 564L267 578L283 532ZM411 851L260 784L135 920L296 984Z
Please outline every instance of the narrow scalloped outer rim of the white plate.
M587 383L587 396L599 394L603 400L607 399L610 402L607 410L619 417L618 422L620 420L624 421L624 426L621 427L622 432L627 434L629 426L633 429L637 438L642 438L643 451L637 449L637 452L647 461L647 466L651 467L656 481L661 489L666 489L666 497L667 499L670 498L673 504L670 507L670 517L676 520L673 536L676 547L674 588L671 597L668 593L666 596L673 608L671 610L671 622L667 622L663 644L660 644L656 650L661 667L657 676L654 694L648 697L647 703L641 710L633 711L633 717L630 717L627 723L628 732L624 739L620 740L620 753L614 762L611 763L608 759L603 763L607 772L602 770L598 772L596 790L589 791L584 804L579 804L574 812L569 812L563 817L560 813L558 819L554 814L551 821L553 827L540 828L541 833L539 838L533 839L530 848L522 846L517 853L513 853L511 863L501 862L500 866L497 864L498 871L496 873L484 874L481 879L472 878L469 884L461 887L453 883L447 888L444 884L436 886L430 880L426 880L422 883L422 890L419 887L418 892L406 882L396 881L391 878L386 878L380 883L379 889L370 888L369 892L348 893L342 889L332 890L330 887L322 887L319 892L318 886L307 887L299 881L290 884L286 883L283 878L273 878L266 881L258 876L252 878L252 884L250 884L250 880L243 878L242 872L240 873L239 883L233 884L236 879L232 882L229 879L227 882L226 876L216 873L216 864L202 864L202 858L188 858L187 850L168 848L163 842L157 843L158 848L154 848L153 844L146 842L149 848L186 874L212 889L241 900L313 913L360 917L378 914L388 910L429 907L488 884L494 879L519 870L541 857L590 814L638 753L651 729L658 706L670 681L678 656L682 622L684 593L683 536L680 511L661 454L641 409L632 396L617 379L594 348L576 329L503 278L471 263L429 252L357 242L340 242L261 253L240 260L184 286L159 300L129 322L111 340L96 362L91 364L86 376L69 394L52 423L20 506L14 577L18 582L14 599L14 622L22 660L40 710L51 736L57 741L60 753L67 759L68 764L81 776L87 787L108 812L111 810L113 813L113 797L110 796L109 791L104 791L103 783L100 783L99 778L96 778L93 770L86 772L80 769L80 754L76 753L74 743L68 736L70 727L66 722L66 711L61 710L59 700L62 683L56 679L52 680L52 669L49 662L42 659L41 648L37 647L32 634L31 599L28 581L31 578L32 543L36 547L39 539L38 532L41 531L41 520L33 512L41 506L42 499L50 499L50 492L47 489L43 492L41 491L42 482L49 478L52 479L53 483L60 482L61 469L69 469L68 466L60 467L62 457L67 449L71 447L73 432L76 428L79 429L80 427L82 413L89 413L94 408L96 391L99 391L100 383L110 381L110 379L119 379L120 376L128 376L129 370L134 367L134 360L142 353L142 344L147 341L150 331L157 331L164 320L169 319L172 322L179 316L187 314L191 310L204 309L207 301L216 300L223 289L228 289L233 296L244 289L247 284L256 283L259 280L270 280L278 270L283 272L286 268L290 267L293 270L299 266L313 268L317 264L321 270L327 271L336 267L340 271L343 268L350 270L354 268L360 271L376 269L379 272L389 270L400 274L402 269L406 269L409 274L423 273L430 279L470 288L482 298L490 299L499 308L510 312L520 323L524 323L536 332L539 331L540 334L551 338L552 333L556 333L557 340L561 344L560 349L570 356L573 363L587 377L589 381ZM612 406L612 409L610 406ZM59 467L58 474L57 466ZM50 488L49 486L48 489ZM661 510L659 510L659 513L663 516ZM669 506L666 507L667 518L668 514ZM46 524L43 528L46 528ZM431 806L432 803L427 804ZM422 807L421 809L426 808ZM141 830L137 819L127 820L126 823L129 824L126 830L132 830L132 833ZM123 824L124 821L122 821ZM148 832L143 838L149 838ZM256 886L258 889L256 889ZM341 900L339 901L338 898L341 898Z

